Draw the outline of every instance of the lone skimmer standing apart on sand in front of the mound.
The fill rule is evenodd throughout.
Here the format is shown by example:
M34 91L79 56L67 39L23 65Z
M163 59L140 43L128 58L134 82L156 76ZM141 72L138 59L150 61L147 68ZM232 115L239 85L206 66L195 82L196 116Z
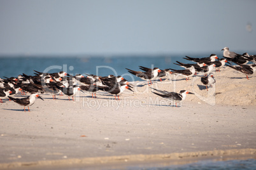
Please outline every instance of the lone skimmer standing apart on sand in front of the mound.
M152 89L154 89L154 88L152 88ZM159 93L155 93L155 92L152 91L155 95L159 95L162 98L169 98L171 100L174 100L176 107L178 107L176 101L183 101L183 100L185 100L187 94L194 95L194 93L191 93L191 92L186 91L186 90L181 90L180 93L162 91L162 90L159 90L159 89L154 89L154 90L158 91L159 93L162 93L162 94L159 94Z

